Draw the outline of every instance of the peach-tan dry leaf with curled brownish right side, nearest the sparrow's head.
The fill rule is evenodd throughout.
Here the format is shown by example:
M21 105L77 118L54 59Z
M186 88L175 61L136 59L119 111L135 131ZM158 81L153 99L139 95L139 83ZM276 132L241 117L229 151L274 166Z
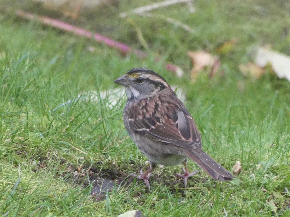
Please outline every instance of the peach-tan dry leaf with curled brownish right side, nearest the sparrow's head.
M212 78L218 67L220 66L220 61L218 56L212 56L211 54L204 51L187 52L187 55L192 59L193 69L191 70L191 80L195 81L198 73L204 69L206 66L211 67L211 71L209 73L209 78Z

